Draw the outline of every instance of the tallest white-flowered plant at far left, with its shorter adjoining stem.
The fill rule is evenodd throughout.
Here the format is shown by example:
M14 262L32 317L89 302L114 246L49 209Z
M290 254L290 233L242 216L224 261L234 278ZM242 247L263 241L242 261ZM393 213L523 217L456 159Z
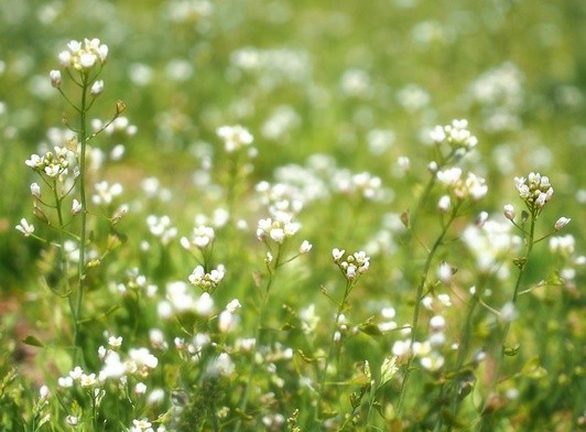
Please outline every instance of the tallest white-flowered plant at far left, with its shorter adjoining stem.
M55 147L44 155L32 154L25 162L41 177L44 187L37 183L31 185L33 195L33 213L43 223L57 233L56 242L59 259L61 285L50 287L55 293L67 298L73 326L73 363L83 359L79 325L83 320L84 292L86 276L90 266L99 264L99 258L88 260L88 199L87 199L87 150L88 142L102 132L124 110L124 104L117 102L111 119L94 133L88 131L88 112L104 91L104 80L98 79L108 57L108 46L98 39L85 39L83 42L70 41L67 50L59 55L62 68L50 73L51 84L55 87L67 105L74 110L77 121L69 121L64 115L64 125L74 132L63 147ZM63 88L63 73L78 88L74 95ZM42 190L51 191L52 202L45 201ZM73 198L73 196L76 196ZM65 203L70 203L70 218L65 216ZM54 216L50 214L54 212ZM79 215L78 229L73 229L74 218ZM115 224L117 220L111 219ZM25 236L33 236L42 241L45 239L34 235L34 226L21 220L17 227ZM67 248L74 240L76 247ZM75 266L75 262L77 266ZM77 267L72 283L72 270Z

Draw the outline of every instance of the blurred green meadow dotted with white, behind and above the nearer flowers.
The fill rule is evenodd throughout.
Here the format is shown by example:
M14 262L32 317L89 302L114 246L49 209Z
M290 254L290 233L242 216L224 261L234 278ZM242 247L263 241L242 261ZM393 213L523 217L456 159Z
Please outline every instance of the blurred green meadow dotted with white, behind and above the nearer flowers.
M176 191L170 214L182 210L182 191L206 190L221 125L253 133L253 181L325 153L393 187L399 156L424 170L428 130L466 118L487 209L516 199L514 176L539 171L555 188L557 213L544 217L572 217L580 242L585 23L583 0L3 0L0 291L22 292L34 274L41 245L14 229L32 219L36 179L24 160L58 143L67 107L48 72L69 40L109 46L93 115L105 119L123 99L137 128L101 139L105 154L124 149L105 176L128 190L160 179Z

